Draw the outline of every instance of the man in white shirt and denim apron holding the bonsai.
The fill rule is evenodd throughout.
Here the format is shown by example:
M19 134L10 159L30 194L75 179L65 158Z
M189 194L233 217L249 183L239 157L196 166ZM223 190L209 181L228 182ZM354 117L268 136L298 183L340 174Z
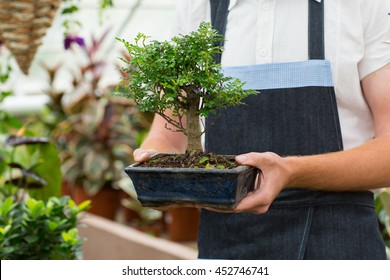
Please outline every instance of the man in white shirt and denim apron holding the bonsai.
M235 213L202 210L201 258L386 257L372 190L390 186L389 11L387 0L178 1L177 32L211 20L226 73L261 91L206 134L207 150L260 172ZM164 125L156 116L135 160L185 150Z

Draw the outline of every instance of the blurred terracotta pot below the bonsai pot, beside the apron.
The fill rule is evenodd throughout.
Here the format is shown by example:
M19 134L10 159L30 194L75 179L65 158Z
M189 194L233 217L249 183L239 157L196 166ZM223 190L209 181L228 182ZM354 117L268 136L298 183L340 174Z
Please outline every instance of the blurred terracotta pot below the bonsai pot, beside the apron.
M196 241L200 211L197 208L179 207L165 212L168 237L172 241Z

